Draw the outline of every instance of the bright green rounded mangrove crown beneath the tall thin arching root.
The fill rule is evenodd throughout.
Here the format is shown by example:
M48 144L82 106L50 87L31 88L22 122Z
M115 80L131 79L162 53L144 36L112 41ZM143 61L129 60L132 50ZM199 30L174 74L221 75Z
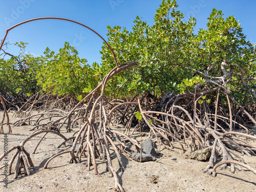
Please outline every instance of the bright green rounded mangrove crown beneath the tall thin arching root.
M90 93L101 81L99 65L93 63L91 67L86 59L80 59L77 50L68 42L57 54L49 48L46 48L44 54L37 70L38 84L43 88L56 85L59 95L74 96Z

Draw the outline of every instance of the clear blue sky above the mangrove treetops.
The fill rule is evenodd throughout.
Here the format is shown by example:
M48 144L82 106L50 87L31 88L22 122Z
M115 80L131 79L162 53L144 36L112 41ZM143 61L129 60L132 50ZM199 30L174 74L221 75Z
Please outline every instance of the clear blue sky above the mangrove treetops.
M121 26L131 30L133 20L138 15L149 25L154 24L154 16L162 0L0 0L0 39L6 29L36 17L63 17L75 20L97 31L107 39L106 26ZM233 15L240 20L247 40L256 44L256 1L236 0L177 0L178 9L185 17L197 18L196 31L206 28L207 17L212 8L222 10L224 16ZM102 39L82 26L62 20L39 20L11 30L7 41L27 42L26 51L41 55L46 47L57 52L65 41L70 42L79 52L80 58L89 63L101 63ZM15 46L8 52L18 54ZM2 52L1 52L2 53Z

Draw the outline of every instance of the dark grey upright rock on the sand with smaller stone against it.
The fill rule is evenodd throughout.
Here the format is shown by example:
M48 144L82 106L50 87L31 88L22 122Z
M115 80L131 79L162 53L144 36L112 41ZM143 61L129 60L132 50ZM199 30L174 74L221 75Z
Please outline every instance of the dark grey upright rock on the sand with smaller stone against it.
M150 138L148 138L142 142L142 150L143 151L142 151L141 162L157 160L157 154L159 153L157 150L157 145ZM139 162L140 161L140 153L133 153L132 159Z

